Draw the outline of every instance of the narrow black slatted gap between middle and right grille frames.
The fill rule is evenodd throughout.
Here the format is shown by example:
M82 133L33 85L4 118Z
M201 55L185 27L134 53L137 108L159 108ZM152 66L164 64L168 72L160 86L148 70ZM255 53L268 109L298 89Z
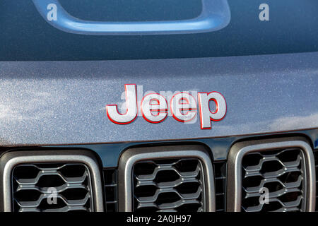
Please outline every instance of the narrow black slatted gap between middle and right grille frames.
M214 162L216 174L216 212L225 212L226 162Z

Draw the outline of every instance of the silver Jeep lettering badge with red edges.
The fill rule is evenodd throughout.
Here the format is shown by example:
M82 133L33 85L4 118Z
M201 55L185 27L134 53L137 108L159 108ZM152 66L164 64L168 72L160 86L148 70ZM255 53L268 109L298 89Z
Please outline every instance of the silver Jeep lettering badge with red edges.
M129 124L138 115L137 90L135 84L125 85L126 111L118 112L117 105L107 105L107 117L115 124ZM160 123L168 115L168 110L177 121L188 122L194 120L199 111L201 129L211 129L211 121L220 121L226 114L226 102L218 92L198 93L198 105L196 99L187 92L180 92L172 96L169 103L159 93L149 93L143 97L140 112L146 121ZM216 105L215 111L211 111L209 103L213 101Z

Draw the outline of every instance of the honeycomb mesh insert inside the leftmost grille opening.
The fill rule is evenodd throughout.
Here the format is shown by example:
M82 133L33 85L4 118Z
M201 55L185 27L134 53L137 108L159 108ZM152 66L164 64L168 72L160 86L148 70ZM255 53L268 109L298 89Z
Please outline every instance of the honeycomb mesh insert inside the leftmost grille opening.
M23 164L13 169L12 176L14 212L93 211L86 165Z

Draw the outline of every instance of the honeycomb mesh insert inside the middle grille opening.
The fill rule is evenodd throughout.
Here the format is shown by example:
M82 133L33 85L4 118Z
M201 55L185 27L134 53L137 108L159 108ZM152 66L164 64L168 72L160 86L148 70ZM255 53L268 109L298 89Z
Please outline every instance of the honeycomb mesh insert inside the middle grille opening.
M134 210L137 212L204 211L204 181L197 159L165 159L134 165Z

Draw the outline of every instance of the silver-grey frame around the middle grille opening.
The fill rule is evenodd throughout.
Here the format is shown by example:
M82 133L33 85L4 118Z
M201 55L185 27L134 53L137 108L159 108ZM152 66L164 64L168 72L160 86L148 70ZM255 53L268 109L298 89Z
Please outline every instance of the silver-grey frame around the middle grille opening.
M133 170L136 162L183 158L194 158L201 162L204 177L205 210L209 212L215 211L213 166L206 149L200 145L160 146L131 148L126 150L119 160L119 211L131 212L134 210ZM193 177L194 174L189 176ZM169 184L164 184L163 186L166 185ZM170 184L170 186L171 185L172 184ZM189 198L191 199L193 197ZM170 207L171 206L167 206L167 210L169 210Z

